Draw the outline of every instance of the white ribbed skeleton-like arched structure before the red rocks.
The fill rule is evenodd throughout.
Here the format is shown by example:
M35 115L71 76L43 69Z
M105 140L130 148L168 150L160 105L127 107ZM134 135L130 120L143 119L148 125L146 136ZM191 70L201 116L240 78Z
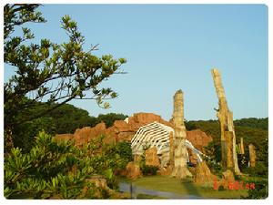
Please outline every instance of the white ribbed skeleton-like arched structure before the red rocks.
M157 121L147 124L141 128L139 128L136 132L136 135L131 140L131 147L134 155L141 155L144 151L144 147L156 147L157 155L168 153L169 152L169 135L170 133L174 133L174 129L170 128L166 125L158 123ZM196 149L190 141L186 139L186 147L187 149L191 149L197 155L197 161L201 162L203 157L207 157L201 151ZM208 157L207 157L208 158ZM187 162L188 153L187 153ZM165 164L161 164L161 166L165 166Z

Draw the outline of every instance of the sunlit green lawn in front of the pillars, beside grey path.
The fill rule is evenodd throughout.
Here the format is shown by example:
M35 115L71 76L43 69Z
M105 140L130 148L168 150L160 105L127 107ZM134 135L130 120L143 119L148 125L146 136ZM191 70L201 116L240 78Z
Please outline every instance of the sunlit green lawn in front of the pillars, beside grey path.
M185 196L194 195L206 199L238 199L241 196L248 196L248 190L213 190L198 187L192 182L181 182L179 179L163 176L149 176L131 181L126 179L126 182L133 182L134 185L149 190L168 191Z

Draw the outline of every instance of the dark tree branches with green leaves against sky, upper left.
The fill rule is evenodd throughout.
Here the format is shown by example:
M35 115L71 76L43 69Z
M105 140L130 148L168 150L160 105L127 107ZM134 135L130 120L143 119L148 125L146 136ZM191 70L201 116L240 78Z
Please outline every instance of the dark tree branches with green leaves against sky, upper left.
M117 97L117 94L111 87L99 85L120 73L119 67L126 63L125 58L95 56L93 52L97 46L85 51L85 37L68 15L61 23L68 35L67 42L56 44L41 39L40 44L32 43L35 36L26 23L45 23L45 18L37 11L38 6L5 5L4 8L4 59L5 64L15 69L15 75L5 83L7 148L13 147L13 133L19 125L44 117L71 99L96 99L99 106L109 108L104 99ZM17 28L22 28L21 36L14 35ZM29 115L29 110L41 101L49 107Z

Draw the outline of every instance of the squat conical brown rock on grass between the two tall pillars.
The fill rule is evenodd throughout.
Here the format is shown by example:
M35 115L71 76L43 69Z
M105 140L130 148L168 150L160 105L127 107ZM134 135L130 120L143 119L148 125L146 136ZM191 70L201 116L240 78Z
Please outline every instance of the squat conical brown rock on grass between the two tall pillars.
M217 180L217 176L213 175L208 169L206 162L202 161L197 164L194 180L197 185L213 187L213 183Z

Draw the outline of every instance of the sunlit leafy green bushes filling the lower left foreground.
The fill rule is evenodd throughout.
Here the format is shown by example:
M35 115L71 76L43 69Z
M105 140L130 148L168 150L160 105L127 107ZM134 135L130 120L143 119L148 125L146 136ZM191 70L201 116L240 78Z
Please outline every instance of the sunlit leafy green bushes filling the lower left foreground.
M95 198L92 190L96 188L86 179L102 175L110 188L117 188L114 170L122 169L128 160L129 150L126 157L121 155L124 150L120 150L126 146L106 146L99 140L78 149L69 141L57 143L41 132L29 152L24 154L21 149L13 148L5 159L5 197ZM85 187L91 190L87 195L83 195Z

